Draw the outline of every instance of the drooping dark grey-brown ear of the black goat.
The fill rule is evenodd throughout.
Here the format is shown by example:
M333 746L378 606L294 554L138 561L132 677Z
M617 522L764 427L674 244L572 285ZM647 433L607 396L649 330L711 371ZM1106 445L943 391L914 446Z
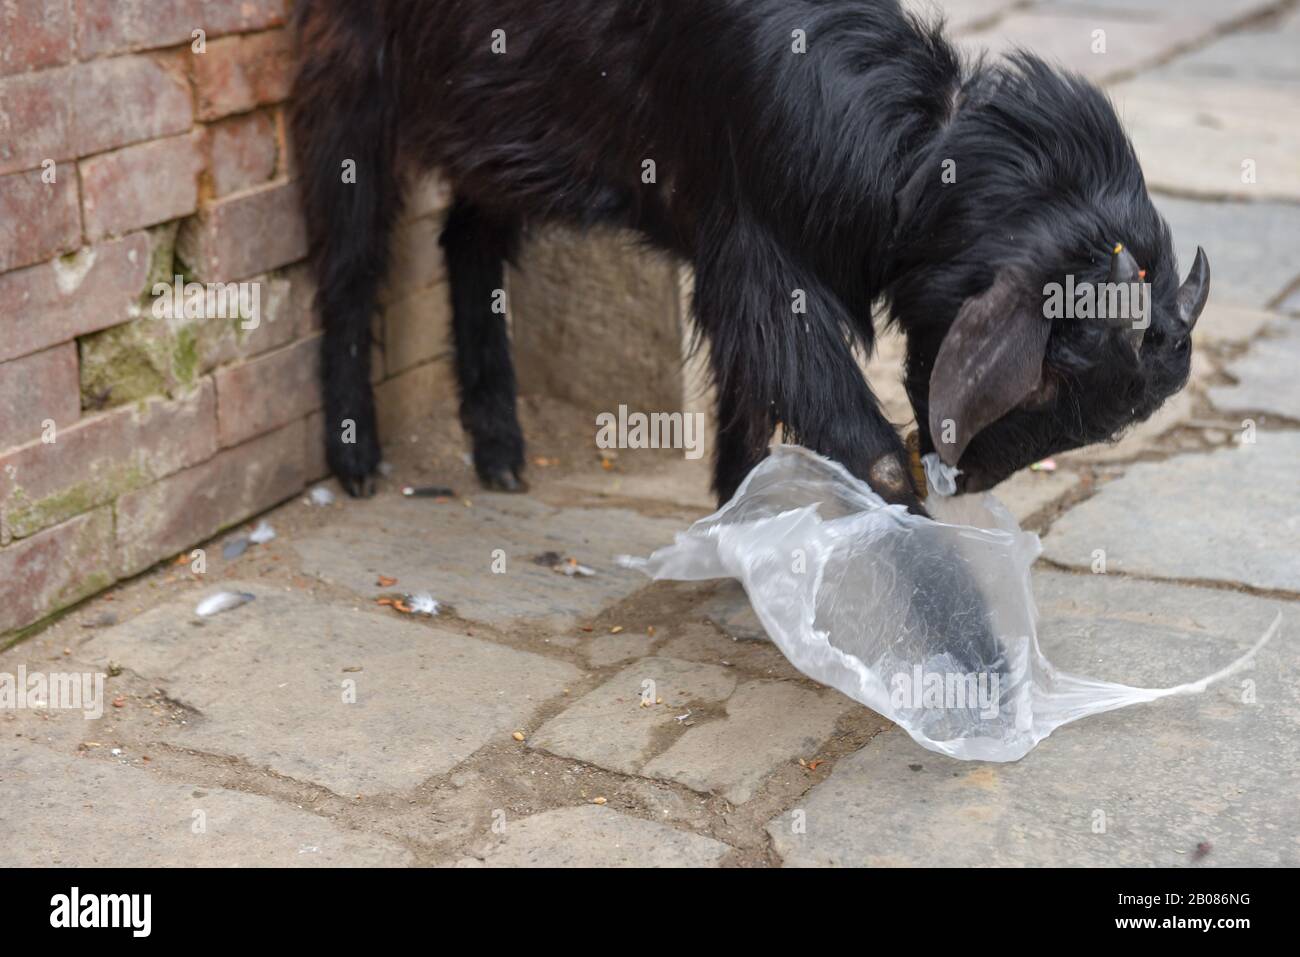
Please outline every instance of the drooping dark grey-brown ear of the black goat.
M930 436L940 459L956 465L975 433L1037 389L1050 332L1009 272L962 303L930 376Z

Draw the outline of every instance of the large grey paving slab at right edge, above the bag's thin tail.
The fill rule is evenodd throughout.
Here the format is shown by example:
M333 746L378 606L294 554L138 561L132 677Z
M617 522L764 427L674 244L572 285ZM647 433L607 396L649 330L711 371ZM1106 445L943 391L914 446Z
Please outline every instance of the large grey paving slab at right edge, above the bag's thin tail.
M1300 592L1300 433L1130 465L1043 540L1053 562Z

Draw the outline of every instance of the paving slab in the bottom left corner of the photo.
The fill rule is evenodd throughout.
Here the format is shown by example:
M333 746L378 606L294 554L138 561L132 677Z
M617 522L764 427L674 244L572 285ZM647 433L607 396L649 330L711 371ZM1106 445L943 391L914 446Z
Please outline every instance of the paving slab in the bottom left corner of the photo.
M195 828L202 828L195 832ZM0 745L0 867L396 867L400 845L257 794Z

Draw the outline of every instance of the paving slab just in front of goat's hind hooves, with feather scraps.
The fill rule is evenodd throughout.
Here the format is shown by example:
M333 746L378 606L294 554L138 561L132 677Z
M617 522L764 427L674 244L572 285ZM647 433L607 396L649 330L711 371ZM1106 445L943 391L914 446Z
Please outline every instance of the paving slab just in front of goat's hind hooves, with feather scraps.
M562 510L530 495L484 493L469 501L472 507L400 495L348 501L337 521L292 545L308 573L360 596L380 594L374 583L385 575L402 590L430 592L463 618L563 629L645 588L645 575L621 568L618 557L647 555L681 529L680 520ZM533 560L549 551L597 575L568 577Z

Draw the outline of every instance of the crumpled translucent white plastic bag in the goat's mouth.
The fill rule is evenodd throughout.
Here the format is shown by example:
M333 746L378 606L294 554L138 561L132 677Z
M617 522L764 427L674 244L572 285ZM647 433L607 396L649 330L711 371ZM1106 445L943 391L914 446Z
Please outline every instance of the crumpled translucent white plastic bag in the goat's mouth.
M794 667L962 759L1017 761L1079 718L1202 692L1280 625L1279 615L1235 662L1174 688L1060 672L1039 649L1030 590L1039 537L991 494L945 498L933 464L927 519L829 459L775 446L675 545L623 560L654 579L737 579Z

